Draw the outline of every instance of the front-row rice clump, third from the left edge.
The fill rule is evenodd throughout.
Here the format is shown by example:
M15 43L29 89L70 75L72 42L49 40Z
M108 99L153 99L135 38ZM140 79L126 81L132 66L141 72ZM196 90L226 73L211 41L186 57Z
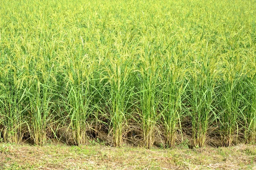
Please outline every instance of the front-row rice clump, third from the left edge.
M73 57L67 63L67 94L63 100L66 104L65 110L68 111L67 127L73 131L74 142L80 145L87 144L95 120L92 101L96 90L91 84L96 80L92 79L93 63L88 61L90 56L77 54Z

